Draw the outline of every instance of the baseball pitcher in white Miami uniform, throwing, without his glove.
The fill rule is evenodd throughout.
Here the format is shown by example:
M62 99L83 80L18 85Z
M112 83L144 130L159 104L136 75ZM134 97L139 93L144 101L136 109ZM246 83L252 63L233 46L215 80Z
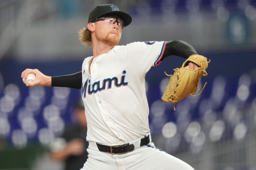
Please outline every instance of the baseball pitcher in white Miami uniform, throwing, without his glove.
M114 4L96 6L89 14L87 28L79 31L80 41L93 51L93 56L84 59L81 72L50 77L37 69L26 69L21 78L36 75L35 81L26 84L29 87L81 89L89 141L89 158L83 170L193 170L151 141L145 76L164 58L177 55L187 59L197 55L196 50L177 40L117 46L123 28L131 22L131 16ZM190 69L198 68L192 62L188 65Z

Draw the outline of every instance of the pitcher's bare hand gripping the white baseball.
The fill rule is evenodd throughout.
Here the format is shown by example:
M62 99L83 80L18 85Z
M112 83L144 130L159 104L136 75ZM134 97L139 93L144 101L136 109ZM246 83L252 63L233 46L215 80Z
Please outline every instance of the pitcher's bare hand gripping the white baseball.
M51 86L52 85L52 77L46 76L41 73L37 69L26 69L21 73L21 78L25 77L27 79L28 74L33 73L36 75L35 81L31 81L26 84L28 87L33 87L34 85L42 85L42 86Z

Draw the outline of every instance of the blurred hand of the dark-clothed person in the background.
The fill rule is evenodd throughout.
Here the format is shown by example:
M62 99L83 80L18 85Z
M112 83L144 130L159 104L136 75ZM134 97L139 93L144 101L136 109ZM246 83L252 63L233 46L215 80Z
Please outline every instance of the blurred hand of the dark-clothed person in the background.
M84 142L81 139L73 139L67 144L65 149L70 155L81 155L85 150Z

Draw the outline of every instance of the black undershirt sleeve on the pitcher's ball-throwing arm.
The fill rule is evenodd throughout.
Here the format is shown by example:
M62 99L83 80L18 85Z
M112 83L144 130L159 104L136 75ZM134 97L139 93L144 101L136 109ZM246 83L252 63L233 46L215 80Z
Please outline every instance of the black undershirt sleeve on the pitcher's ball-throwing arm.
M82 71L74 73L74 74L52 77L52 86L81 89L81 87L82 87Z

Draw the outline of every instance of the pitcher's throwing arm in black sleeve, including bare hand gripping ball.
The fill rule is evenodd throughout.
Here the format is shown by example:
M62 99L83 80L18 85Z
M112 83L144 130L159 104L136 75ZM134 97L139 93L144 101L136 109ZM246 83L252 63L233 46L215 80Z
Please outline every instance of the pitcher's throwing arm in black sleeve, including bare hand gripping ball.
M35 74L36 79L35 81L27 83L26 86L28 87L33 87L34 85L70 87L76 89L81 89L82 87L82 71L69 75L50 77L44 75L38 69L26 69L21 73L21 78L25 77L26 79L30 73Z

